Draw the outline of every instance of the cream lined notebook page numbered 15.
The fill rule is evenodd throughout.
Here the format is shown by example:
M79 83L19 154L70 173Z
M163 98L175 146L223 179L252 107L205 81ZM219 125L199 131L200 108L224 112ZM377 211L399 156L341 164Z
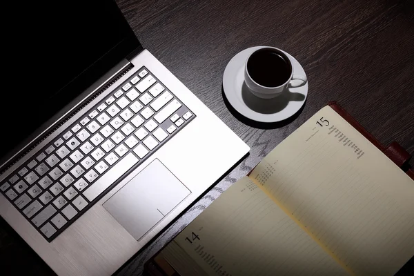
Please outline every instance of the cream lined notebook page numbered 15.
M357 275L392 275L414 255L414 181L329 106L250 177Z

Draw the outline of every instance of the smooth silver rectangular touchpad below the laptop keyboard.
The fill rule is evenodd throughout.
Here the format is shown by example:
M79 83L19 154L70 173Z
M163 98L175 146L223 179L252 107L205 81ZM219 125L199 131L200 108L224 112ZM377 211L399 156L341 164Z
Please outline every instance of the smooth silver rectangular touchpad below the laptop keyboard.
M190 190L155 159L103 207L138 240L187 195Z

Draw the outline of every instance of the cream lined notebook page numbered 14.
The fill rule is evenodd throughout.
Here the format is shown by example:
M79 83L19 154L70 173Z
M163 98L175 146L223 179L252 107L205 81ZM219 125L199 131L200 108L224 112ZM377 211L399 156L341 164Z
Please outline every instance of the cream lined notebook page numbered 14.
M347 275L248 177L173 242L208 275Z

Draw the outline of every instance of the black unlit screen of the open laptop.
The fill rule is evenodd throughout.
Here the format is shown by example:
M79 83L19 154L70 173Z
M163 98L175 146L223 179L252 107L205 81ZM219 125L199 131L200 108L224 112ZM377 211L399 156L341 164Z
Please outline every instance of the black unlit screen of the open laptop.
M0 160L133 50L141 47L112 0L30 1L12 31L24 70L5 93ZM19 74L19 72L16 72ZM4 109L5 108L5 109ZM8 154L7 154L8 153ZM1 163L0 163L1 164Z

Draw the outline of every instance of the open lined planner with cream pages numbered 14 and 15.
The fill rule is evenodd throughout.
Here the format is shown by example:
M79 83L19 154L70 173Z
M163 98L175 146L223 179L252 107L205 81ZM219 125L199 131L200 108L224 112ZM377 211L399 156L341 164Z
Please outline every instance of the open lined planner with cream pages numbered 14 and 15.
M182 276L393 275L413 255L414 181L326 106L155 262Z

